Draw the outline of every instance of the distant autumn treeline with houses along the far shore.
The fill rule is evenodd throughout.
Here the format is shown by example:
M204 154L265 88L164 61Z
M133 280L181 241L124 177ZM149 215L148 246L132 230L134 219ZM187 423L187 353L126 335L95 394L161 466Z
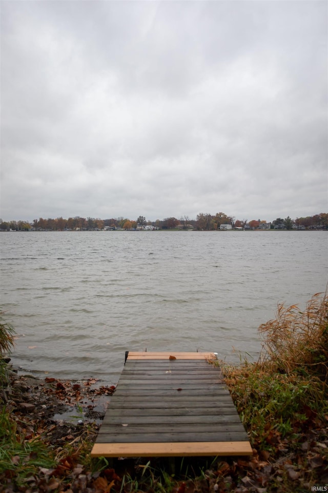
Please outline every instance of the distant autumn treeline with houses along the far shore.
M157 219L156 221L147 221L144 216L139 216L137 219L128 219L117 217L111 219L99 219L93 217L57 217L56 219L34 219L31 223L28 221L3 221L0 219L0 230L2 231L99 231L99 230L135 230L135 229L154 229L159 230L219 230L221 224L230 224L232 228L237 229L328 229L328 213L316 214L308 217L298 217L291 219L278 217L272 222L267 222L263 219L235 219L232 216L227 216L222 212L215 215L199 213L196 219L190 219L189 216L183 216L180 219L175 217L167 217L165 219Z

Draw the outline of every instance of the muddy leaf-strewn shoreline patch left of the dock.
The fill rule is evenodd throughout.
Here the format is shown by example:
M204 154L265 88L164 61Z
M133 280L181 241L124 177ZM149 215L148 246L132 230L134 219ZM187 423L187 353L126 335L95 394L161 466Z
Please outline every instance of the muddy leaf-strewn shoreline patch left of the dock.
M27 439L35 436L36 425L39 432L47 430L47 442L53 446L69 442L86 424L96 436L114 386L99 385L94 378L70 381L18 375L17 369L10 365L10 358L5 361L8 380L0 389L0 398L18 426L20 422L25 423Z

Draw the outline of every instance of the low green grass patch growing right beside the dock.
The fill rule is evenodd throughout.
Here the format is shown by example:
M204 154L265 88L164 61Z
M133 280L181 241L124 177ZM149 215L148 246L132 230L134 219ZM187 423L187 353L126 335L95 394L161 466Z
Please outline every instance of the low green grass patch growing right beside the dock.
M311 375L282 374L270 364L224 367L227 384L253 447L275 449L279 435L293 436L309 419L328 412L325 385Z

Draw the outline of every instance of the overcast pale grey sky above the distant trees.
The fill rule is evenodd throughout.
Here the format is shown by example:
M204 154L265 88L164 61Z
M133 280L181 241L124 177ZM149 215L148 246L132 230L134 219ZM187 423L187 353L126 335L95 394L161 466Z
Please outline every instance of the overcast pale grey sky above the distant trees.
M2 0L2 219L328 212L327 5Z

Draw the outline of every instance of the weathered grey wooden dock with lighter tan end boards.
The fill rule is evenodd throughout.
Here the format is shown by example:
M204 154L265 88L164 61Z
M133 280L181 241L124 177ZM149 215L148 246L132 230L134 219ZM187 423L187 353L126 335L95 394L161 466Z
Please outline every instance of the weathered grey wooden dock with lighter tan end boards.
M92 457L250 455L213 353L129 352Z

